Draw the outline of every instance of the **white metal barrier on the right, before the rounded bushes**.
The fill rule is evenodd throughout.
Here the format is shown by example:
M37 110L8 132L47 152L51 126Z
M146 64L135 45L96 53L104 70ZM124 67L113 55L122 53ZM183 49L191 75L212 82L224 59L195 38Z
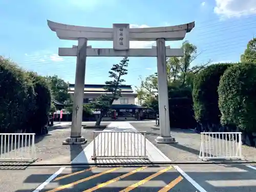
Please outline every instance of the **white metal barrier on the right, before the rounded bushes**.
M202 132L199 158L242 160L241 132Z

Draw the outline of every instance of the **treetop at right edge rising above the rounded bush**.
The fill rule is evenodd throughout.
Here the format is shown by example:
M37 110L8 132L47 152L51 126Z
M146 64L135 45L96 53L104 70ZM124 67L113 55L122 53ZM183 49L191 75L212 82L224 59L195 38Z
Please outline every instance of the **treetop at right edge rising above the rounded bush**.
M256 63L256 38L248 42L247 49L241 55L241 62Z

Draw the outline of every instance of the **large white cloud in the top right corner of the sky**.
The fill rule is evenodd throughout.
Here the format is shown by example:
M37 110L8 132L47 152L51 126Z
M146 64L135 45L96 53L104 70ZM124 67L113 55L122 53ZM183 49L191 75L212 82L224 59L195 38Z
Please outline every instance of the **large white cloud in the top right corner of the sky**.
M240 17L256 14L255 0L215 0L214 12L222 17Z

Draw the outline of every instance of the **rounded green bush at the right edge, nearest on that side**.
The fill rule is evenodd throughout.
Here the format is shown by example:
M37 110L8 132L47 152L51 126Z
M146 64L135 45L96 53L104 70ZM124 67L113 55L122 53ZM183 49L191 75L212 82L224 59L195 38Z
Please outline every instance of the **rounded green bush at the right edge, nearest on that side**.
M240 63L226 70L218 93L221 123L256 132L256 65Z

